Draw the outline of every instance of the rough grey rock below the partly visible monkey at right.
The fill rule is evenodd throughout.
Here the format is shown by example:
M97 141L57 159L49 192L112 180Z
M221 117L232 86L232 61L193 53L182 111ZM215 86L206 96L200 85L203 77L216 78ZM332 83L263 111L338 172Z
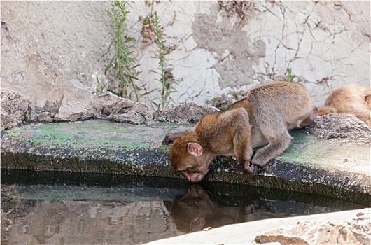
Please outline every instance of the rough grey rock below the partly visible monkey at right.
M317 116L305 130L318 139L371 139L371 127L351 114Z

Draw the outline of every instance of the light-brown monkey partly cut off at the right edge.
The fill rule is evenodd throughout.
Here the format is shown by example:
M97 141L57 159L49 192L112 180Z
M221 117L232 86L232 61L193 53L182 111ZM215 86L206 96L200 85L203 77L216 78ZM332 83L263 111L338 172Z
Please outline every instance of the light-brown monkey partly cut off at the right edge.
M332 90L318 109L318 116L328 113L353 114L371 126L371 87L353 83Z

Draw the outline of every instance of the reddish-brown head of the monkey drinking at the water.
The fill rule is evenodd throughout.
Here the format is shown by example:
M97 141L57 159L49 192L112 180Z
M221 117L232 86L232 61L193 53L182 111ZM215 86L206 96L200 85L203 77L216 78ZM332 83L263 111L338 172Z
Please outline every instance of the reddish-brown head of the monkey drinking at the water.
M197 133L183 135L169 147L169 160L176 172L181 172L188 181L201 181L209 171L215 155L202 147Z

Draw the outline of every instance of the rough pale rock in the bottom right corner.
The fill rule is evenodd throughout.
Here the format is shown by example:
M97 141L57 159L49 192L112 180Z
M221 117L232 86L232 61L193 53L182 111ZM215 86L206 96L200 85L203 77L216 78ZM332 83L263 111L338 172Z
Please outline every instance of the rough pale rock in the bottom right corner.
M279 244L370 244L370 213L358 213L350 222L298 222L295 228L277 229L258 235L259 243Z

